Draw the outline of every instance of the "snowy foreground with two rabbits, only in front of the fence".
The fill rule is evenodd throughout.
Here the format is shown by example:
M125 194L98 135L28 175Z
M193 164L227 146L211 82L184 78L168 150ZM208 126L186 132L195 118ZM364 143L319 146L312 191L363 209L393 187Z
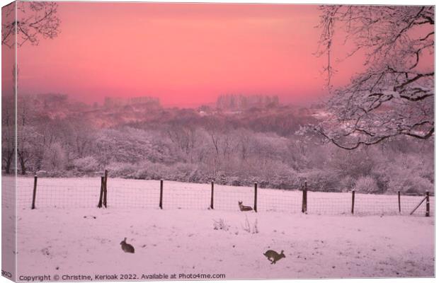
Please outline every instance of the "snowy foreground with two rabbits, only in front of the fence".
M258 222L258 233L244 231ZM96 218L95 218L96 217ZM215 230L224 219L228 231ZM433 218L159 209L23 210L18 275L433 277ZM123 253L120 241L135 247ZM268 249L285 250L275 265Z

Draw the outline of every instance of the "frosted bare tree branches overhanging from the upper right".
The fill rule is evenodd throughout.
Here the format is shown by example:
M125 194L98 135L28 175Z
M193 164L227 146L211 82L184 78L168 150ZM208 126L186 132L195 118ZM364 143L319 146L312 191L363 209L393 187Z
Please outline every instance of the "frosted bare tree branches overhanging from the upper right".
M316 127L343 149L401 135L429 139L434 133L434 7L321 6L319 55L332 93L329 117ZM333 88L336 33L364 56L363 71Z

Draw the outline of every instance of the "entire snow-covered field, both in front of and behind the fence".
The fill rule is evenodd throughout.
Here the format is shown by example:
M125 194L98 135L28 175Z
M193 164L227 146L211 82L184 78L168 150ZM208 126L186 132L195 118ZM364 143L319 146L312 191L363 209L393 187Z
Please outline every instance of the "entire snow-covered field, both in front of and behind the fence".
M18 180L18 275L434 276L434 217L366 211L374 197L375 209L392 208L377 204L395 196L360 196L360 216L352 216L350 193L309 192L309 214L301 214L301 192L261 189L256 214L239 212L237 205L238 199L253 204L252 188L216 185L215 209L209 210L209 184L165 181L161 210L157 181L109 179L108 209L97 209L96 178L38 182L37 209L31 210L31 190L23 188L33 179ZM313 211L312 199L320 211ZM225 229L214 229L220 219ZM121 250L125 237L135 254ZM286 258L270 265L263 255L268 249L284 250Z

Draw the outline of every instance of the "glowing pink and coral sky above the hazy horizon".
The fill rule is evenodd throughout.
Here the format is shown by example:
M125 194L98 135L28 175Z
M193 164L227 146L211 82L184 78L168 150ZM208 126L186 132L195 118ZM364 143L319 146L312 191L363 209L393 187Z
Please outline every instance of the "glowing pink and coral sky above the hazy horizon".
M58 37L18 50L21 93L156 96L181 106L225 93L285 103L326 93L324 58L313 54L317 6L76 2L59 3L58 13Z

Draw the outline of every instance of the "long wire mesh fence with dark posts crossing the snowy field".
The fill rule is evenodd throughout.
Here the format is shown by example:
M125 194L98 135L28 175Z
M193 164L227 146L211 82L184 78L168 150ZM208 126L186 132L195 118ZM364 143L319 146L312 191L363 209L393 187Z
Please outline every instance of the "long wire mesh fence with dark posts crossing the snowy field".
M16 204L19 209L30 209L35 180L18 178ZM100 200L99 178L38 178L35 207L87 208L97 207ZM255 203L256 193L256 203ZM107 181L108 208L213 209L239 211L238 202L258 212L300 213L304 209L301 190L273 190L254 187L232 187L211 184L164 181L160 194L159 180ZM6 197L11 200L7 200ZM2 195L3 202L13 202L14 195ZM423 201L423 203L421 203ZM414 210L418 204L418 209ZM367 195L352 192L307 192L305 211L308 214L354 215L426 215L425 195ZM430 216L435 214L435 197L429 197Z

